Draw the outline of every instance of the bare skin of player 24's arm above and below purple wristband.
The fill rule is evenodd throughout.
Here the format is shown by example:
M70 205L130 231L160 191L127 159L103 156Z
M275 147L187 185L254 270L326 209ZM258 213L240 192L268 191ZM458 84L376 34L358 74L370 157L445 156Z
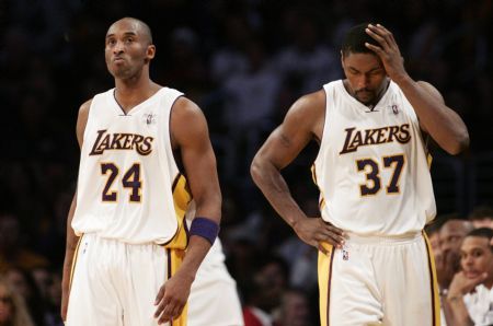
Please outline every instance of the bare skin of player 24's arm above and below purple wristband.
M219 225L221 191L216 168L216 156L210 143L207 121L199 107L180 97L171 113L171 138L179 149L192 196L196 203L196 217ZM198 267L211 243L199 235L192 235L185 258L177 272L160 289L156 299L154 316L159 323L180 316L190 294Z

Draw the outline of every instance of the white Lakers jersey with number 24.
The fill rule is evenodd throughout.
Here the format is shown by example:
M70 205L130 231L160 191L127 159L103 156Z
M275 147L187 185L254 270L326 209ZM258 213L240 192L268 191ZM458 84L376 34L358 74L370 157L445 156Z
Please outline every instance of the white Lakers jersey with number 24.
M81 149L76 234L186 246L191 196L170 140L171 108L181 95L163 88L128 114L114 90L94 96Z

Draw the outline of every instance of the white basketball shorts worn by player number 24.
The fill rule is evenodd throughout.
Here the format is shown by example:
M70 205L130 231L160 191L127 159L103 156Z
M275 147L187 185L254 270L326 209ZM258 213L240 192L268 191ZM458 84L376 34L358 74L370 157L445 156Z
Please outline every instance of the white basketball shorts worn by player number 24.
M158 325L156 295L176 270L180 252L83 234L73 258L66 325ZM186 321L181 317L174 325Z

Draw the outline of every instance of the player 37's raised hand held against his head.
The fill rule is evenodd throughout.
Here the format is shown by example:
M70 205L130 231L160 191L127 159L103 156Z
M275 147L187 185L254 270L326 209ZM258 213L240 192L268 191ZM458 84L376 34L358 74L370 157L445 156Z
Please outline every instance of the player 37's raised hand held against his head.
M408 75L404 69L404 59L392 33L380 24L369 24L366 33L380 45L365 44L367 48L378 55L389 78L397 81Z

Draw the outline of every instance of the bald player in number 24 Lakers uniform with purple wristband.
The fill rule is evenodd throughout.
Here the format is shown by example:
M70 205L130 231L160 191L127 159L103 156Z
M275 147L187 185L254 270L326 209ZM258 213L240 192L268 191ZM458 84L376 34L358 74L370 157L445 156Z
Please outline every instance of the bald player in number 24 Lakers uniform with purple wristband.
M144 22L111 25L105 59L115 88L79 110L62 280L70 326L186 325L192 282L218 233L221 195L205 117L150 80L154 54Z

